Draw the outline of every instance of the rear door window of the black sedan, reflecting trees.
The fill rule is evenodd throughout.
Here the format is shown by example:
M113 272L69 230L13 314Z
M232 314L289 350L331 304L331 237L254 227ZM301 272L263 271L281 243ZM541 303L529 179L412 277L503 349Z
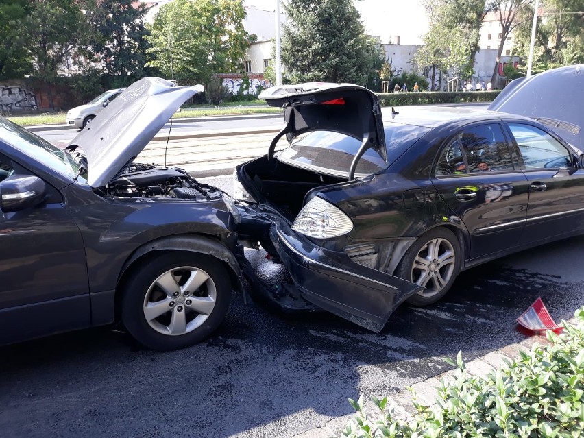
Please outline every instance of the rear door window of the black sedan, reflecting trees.
M459 138L466 155L468 171L513 170L511 151L498 123L466 128Z

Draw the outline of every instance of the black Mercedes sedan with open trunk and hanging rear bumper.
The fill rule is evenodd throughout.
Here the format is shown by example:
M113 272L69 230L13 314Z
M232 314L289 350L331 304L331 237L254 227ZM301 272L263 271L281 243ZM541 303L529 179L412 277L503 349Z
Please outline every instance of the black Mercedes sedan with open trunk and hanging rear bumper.
M249 194L237 231L291 281L257 287L379 331L464 269L583 233L583 94L584 66L512 83L491 107L515 114L380 108L352 84L269 88L286 125L236 171Z

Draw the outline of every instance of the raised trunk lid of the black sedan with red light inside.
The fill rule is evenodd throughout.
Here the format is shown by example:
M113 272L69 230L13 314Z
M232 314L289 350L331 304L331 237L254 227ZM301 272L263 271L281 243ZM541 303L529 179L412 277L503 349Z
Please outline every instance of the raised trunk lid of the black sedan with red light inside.
M334 131L357 138L385 158L385 134L375 93L354 84L309 82L268 88L259 95L269 106L284 108L286 127L274 138L268 156L278 139L286 134L291 142L304 132Z

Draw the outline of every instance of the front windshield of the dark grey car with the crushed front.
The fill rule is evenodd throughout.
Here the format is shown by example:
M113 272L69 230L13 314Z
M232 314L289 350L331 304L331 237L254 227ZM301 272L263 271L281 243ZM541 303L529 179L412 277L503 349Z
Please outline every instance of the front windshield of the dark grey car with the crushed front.
M79 173L80 166L69 152L51 145L48 141L4 117L0 117L0 136L3 141L19 149L23 154L37 162L42 162L43 165L62 175L75 178Z

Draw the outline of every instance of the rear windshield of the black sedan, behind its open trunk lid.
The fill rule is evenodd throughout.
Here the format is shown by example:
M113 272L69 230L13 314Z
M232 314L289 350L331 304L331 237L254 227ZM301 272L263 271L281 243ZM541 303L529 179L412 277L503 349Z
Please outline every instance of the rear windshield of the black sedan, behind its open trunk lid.
M386 123L385 144L387 162L375 149L367 149L358 161L355 174L371 175L382 171L406 151L428 128L399 123ZM332 131L313 131L298 138L278 155L278 160L292 165L311 167L335 175L348 174L361 141Z

